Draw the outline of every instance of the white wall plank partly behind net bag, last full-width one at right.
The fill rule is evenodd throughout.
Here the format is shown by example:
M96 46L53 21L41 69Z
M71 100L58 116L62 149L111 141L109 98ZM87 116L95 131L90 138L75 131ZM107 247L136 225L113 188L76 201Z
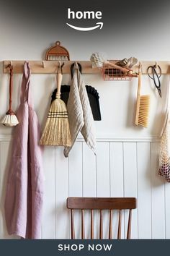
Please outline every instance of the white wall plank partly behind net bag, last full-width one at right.
M151 200L152 200L152 238L165 238L165 198L164 179L158 176L159 144L151 144Z

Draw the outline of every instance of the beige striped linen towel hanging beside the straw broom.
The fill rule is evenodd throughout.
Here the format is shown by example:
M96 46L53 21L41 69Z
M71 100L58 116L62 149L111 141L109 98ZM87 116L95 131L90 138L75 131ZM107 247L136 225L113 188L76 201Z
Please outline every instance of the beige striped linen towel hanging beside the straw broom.
M74 65L73 79L67 103L68 119L71 132L71 147L64 149L64 155L67 157L79 132L84 137L86 144L91 150L96 152L96 138L94 132L94 120L91 113L89 98L86 93L86 87L82 80L81 73L77 63Z

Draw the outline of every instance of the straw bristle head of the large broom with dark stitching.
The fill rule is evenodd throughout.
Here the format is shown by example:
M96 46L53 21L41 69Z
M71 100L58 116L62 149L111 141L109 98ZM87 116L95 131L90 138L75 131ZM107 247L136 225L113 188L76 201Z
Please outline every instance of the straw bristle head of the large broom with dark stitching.
M71 146L68 113L66 104L61 99L55 99L55 101L51 103L40 144Z

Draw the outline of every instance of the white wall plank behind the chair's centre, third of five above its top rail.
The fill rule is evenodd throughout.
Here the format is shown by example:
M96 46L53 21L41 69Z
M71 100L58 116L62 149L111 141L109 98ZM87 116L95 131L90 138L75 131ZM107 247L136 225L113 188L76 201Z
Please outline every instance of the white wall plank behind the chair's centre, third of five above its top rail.
M109 142L97 143L97 197L110 196ZM103 211L103 238L108 238L109 211ZM99 237L99 212L97 214L97 235Z

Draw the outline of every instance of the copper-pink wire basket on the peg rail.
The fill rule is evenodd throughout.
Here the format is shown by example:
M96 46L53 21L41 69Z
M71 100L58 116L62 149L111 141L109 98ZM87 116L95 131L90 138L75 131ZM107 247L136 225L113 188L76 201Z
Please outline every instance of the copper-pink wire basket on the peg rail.
M119 60L109 60L109 62L115 64ZM109 64L104 64L102 67L102 77L104 81L130 81L132 77L128 77L125 72L120 69L115 69Z

